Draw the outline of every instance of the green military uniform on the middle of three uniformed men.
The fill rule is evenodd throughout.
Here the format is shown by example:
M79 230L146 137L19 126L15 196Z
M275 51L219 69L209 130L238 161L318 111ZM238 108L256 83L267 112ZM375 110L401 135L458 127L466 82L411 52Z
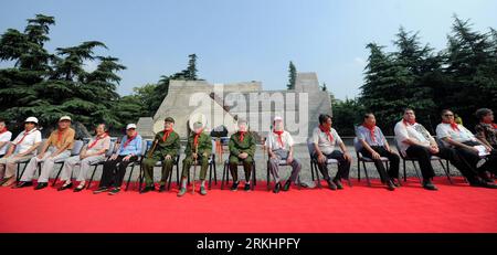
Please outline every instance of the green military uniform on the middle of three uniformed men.
M193 140L197 134L192 132L192 135L188 138L187 148L184 149L184 155L187 156L183 159L183 171L181 173L182 178L187 178L190 171L190 167L193 164L194 159L192 157L193 152L195 152L195 147L193 145ZM211 136L202 132L198 138L198 158L197 162L200 164L200 180L205 180L207 169L209 168L209 157L212 153L212 138Z

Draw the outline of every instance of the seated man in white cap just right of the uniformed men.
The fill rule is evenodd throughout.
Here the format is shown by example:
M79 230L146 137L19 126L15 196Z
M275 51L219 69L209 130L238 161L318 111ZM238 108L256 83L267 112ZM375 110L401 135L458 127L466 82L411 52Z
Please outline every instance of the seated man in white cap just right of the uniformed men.
M300 172L302 163L298 159L294 158L294 139L288 131L285 131L283 118L276 116L273 121L273 131L267 135L266 147L271 157L269 171L276 182L273 192L278 193L282 189L278 173L279 161L285 160L288 164L292 164L292 176L285 182L283 191L288 191L292 182L295 183L298 178L298 173Z

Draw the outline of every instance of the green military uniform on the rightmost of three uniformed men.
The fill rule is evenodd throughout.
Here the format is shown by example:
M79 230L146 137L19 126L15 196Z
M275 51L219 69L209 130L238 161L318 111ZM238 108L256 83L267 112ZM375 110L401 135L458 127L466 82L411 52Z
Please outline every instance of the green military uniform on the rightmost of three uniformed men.
M243 140L240 139L241 132L235 132L231 136L229 148L230 148L230 171L233 177L233 182L239 180L237 166L243 162L243 169L245 171L245 181L251 180L251 171L254 164L254 153L255 153L255 138L251 132L245 132L243 135ZM248 157L245 159L239 158L239 155L246 152Z

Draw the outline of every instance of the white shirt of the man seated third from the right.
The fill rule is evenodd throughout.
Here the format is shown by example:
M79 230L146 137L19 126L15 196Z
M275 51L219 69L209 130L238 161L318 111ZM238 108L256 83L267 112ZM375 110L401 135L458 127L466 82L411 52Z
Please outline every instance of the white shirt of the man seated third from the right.
M430 138L423 136L420 131L423 129ZM433 139L430 132L423 127L423 125L415 123L414 125L404 124L403 120L400 120L395 124L395 128L393 129L395 132L396 145L399 146L401 153L405 156L405 150L409 148L409 145L403 142L406 139L415 140L423 146L430 146L430 140Z

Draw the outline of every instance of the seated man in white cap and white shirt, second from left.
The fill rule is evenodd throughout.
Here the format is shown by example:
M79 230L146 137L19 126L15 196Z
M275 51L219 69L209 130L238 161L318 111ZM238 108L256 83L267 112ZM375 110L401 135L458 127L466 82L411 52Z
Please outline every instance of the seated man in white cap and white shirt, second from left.
M42 141L41 132L36 129L38 119L29 117L24 120L24 130L15 137L0 164L6 167L6 174L1 181L3 187L15 182L15 166L35 156L35 150Z

